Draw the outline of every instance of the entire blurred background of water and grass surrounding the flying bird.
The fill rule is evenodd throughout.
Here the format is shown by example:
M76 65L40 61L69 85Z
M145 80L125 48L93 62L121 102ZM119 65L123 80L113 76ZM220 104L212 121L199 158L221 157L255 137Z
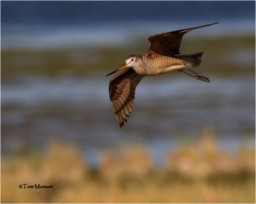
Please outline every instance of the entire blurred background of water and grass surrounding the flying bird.
M180 49L211 84L143 78L120 129L106 74L213 22ZM255 202L255 2L1 1L1 166L8 203Z

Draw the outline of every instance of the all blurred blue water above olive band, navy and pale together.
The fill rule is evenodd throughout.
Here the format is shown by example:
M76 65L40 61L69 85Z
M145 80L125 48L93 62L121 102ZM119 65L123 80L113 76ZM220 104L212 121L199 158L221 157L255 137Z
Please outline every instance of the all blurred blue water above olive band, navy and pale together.
M212 22L221 24L190 36L253 34L255 3L2 1L1 47L123 46L139 37Z

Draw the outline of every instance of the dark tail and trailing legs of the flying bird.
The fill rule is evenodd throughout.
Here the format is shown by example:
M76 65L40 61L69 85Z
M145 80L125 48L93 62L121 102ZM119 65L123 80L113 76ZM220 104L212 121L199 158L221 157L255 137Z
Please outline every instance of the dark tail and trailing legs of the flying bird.
M197 73L193 69L196 66L200 65L202 55L203 55L203 52L197 52L189 55L180 55L180 57L182 57L182 59L186 62L186 64L188 64L188 66L186 66L186 68L180 69L179 71L185 73L186 75L194 77L198 80L201 80L203 82L210 82L209 78L204 77L202 74Z

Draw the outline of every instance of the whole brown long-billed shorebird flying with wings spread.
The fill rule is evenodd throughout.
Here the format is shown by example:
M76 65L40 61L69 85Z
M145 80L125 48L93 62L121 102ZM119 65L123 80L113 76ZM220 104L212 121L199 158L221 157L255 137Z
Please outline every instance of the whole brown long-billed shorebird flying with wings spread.
M132 112L135 89L143 77L180 71L197 80L210 82L208 77L194 70L195 67L200 65L203 52L180 55L180 44L184 34L189 31L218 23L150 36L148 40L151 45L147 52L141 55L129 55L120 68L106 75L109 76L125 69L109 81L109 98L120 128L124 126L124 121L127 122L127 117Z

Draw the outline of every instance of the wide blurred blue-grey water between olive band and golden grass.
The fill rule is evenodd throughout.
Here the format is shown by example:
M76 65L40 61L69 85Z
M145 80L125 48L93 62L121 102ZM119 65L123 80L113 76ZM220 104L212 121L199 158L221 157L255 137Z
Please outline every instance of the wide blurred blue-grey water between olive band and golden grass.
M204 125L214 128L225 149L236 149L253 135L253 77L214 77L207 84L174 76L141 81L134 110L122 129L111 110L108 77L20 77L1 90L2 150L40 148L64 139L81 145L95 163L100 151L124 142L163 156L186 136L196 140Z

